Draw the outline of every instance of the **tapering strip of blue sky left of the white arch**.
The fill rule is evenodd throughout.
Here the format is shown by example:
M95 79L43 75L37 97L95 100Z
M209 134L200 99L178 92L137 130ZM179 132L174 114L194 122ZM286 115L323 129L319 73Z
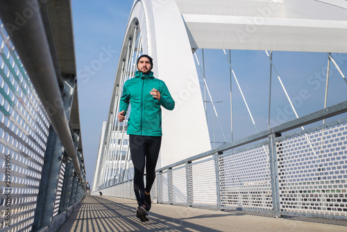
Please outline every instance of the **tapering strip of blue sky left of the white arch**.
M83 155L90 183L131 6L131 0L72 1Z

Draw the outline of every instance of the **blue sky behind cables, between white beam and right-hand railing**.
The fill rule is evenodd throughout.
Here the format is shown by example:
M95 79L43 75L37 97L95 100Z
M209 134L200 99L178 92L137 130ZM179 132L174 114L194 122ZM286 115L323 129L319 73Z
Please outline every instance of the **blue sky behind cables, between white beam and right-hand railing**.
M228 52L227 52L228 53ZM201 51L198 51L201 55ZM230 129L230 74L228 60L221 50L205 50L205 78L208 83L217 113L223 125L227 142L231 141ZM264 131L269 122L269 69L265 51L231 51L231 62L244 97L255 120L258 131ZM332 54L346 76L347 54ZM198 56L199 57L199 56ZM339 61L338 61L339 60ZM199 63L202 62L202 56ZM301 53L273 51L273 63L285 85L298 116L320 110L324 106L325 78L328 65L327 53ZM202 78L198 69L200 80ZM202 85L202 81L200 81ZM271 81L271 126L295 119L289 101L282 90L274 70ZM327 106L347 100L347 84L334 65L330 65L330 81ZM210 101L210 99L208 99ZM256 133L246 105L232 76L233 138L238 140ZM212 105L208 106L208 123L213 128ZM214 117L216 120L216 117ZM216 141L223 142L217 121L214 122ZM212 138L212 130L210 130ZM213 147L213 146L212 146Z

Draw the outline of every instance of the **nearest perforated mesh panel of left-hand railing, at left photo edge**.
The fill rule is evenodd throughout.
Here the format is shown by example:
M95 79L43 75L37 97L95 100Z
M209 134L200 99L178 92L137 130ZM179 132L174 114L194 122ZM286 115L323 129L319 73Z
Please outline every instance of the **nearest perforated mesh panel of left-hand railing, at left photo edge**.
M3 24L0 34L0 231L31 231L49 122Z

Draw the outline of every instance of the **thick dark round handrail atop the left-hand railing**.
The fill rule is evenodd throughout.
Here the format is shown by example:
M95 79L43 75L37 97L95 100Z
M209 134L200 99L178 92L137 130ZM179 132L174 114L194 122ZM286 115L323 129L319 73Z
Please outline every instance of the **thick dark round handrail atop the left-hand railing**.
M37 95L42 101L51 124L56 131L67 155L72 159L78 178L83 183L83 176L78 156L72 140L69 123L65 115L64 104L60 93L56 71L49 44L40 15L40 5L36 0L0 1L0 17L15 45L22 63L28 72ZM18 13L31 12L20 19Z

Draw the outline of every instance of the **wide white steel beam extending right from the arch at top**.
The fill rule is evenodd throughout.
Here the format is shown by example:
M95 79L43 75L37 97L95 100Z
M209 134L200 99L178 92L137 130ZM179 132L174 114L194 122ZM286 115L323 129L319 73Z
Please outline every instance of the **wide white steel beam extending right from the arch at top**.
M194 49L347 53L347 1L176 2Z

